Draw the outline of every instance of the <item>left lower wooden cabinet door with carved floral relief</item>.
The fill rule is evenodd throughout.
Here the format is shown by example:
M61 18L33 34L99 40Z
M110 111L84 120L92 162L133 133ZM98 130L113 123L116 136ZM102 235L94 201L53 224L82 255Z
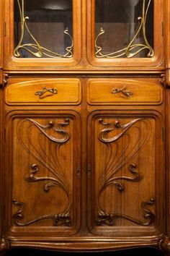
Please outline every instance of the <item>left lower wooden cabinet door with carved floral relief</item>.
M53 112L53 114L52 114ZM75 113L27 111L6 117L7 225L23 236L79 228L80 140ZM12 209L12 210L11 210Z

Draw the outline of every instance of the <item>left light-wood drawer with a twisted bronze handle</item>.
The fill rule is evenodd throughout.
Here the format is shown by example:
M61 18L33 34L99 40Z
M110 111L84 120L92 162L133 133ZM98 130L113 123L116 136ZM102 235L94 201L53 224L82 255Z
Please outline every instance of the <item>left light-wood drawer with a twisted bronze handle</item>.
M78 105L81 82L78 79L48 79L13 83L6 88L5 101L8 105Z

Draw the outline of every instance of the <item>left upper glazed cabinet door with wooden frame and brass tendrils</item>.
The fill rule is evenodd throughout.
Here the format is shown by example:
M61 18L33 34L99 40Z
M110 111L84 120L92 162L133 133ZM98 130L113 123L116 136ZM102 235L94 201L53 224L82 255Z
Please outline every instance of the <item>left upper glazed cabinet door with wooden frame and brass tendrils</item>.
M6 69L75 66L81 54L80 9L80 0L4 1Z

